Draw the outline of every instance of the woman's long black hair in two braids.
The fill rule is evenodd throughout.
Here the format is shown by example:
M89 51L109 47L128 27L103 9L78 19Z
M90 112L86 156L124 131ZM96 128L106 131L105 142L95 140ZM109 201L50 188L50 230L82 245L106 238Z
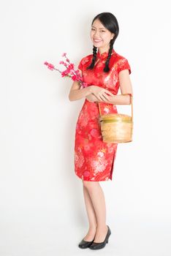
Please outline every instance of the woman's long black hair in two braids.
M109 62L110 62L110 57L111 57L111 53L113 50L113 44L115 42L116 37L118 37L118 33L119 33L119 26L118 26L118 20L115 18L115 15L113 15L111 12L102 12L99 13L98 15L96 15L96 17L94 17L91 26L94 23L94 20L98 19L103 26L108 29L111 33L114 33L114 37L113 39L110 40L110 50L108 52L108 56L107 56L107 60L105 62L105 67L103 69L104 72L109 72L110 68L109 68ZM93 48L93 59L91 61L90 66L87 67L87 69L93 69L94 68L94 64L96 62L96 53L97 53L97 48L94 46Z

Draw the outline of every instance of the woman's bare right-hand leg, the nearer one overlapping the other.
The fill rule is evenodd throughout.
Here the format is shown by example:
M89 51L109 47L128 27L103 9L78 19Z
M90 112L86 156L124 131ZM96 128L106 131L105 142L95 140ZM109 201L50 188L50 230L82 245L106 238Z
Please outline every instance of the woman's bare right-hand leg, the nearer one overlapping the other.
M107 234L104 192L98 181L83 181L83 186L88 190L96 214L97 227L94 242L101 243Z

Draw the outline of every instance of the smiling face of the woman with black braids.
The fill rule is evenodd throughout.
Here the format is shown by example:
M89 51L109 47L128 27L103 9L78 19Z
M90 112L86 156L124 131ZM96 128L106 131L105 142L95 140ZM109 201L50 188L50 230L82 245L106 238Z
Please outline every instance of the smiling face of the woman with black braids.
M102 23L97 19L91 26L91 41L94 46L99 48L100 52L108 51L110 48L110 40L113 39L115 34L106 29Z

